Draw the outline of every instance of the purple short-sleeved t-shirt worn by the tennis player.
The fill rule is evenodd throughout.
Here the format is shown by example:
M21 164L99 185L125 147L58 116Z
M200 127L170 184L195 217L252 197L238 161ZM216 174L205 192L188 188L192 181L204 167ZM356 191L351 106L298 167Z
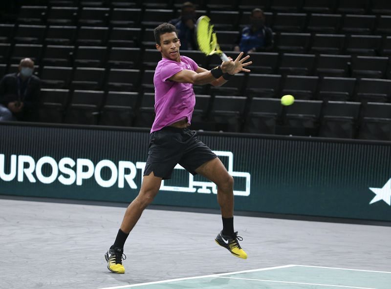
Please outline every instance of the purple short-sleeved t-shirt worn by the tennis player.
M181 56L181 62L163 58L157 63L153 83L155 85L155 120L151 133L164 126L187 118L190 124L195 105L192 83L177 83L168 79L181 70L198 68L192 59Z

